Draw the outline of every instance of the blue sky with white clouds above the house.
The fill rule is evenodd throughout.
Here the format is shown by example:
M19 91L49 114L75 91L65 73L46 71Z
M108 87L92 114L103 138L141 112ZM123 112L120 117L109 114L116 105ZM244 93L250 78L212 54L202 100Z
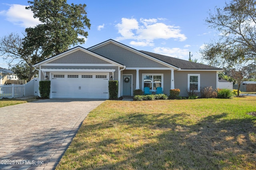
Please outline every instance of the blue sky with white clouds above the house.
M86 42L88 48L114 39L138 50L150 51L188 60L199 59L200 48L218 32L208 28L205 19L209 10L223 8L225 0L67 0L68 4L86 4L91 28ZM229 2L229 0L227 0ZM25 10L27 0L0 2L0 37L22 33L38 20ZM0 57L0 67L8 68Z

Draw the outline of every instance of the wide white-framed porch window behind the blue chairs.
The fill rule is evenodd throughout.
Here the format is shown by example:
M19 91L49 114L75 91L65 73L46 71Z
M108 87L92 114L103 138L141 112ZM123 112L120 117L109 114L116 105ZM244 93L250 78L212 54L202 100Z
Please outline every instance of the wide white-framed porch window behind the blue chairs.
M150 90L156 90L157 87L163 88L163 74L142 74L142 89L149 87Z

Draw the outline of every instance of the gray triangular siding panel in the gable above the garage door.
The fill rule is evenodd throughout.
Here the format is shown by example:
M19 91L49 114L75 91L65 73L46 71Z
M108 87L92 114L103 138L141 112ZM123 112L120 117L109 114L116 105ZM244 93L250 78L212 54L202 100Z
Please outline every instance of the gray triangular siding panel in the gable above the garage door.
M111 64L98 57L85 53L84 51L75 51L64 57L49 62L50 64Z

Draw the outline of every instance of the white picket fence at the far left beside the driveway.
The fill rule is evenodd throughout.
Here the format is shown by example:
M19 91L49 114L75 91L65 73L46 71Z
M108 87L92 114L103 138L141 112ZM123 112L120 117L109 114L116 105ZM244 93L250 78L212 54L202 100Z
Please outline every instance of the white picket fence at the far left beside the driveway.
M0 84L0 99L25 96L25 84Z

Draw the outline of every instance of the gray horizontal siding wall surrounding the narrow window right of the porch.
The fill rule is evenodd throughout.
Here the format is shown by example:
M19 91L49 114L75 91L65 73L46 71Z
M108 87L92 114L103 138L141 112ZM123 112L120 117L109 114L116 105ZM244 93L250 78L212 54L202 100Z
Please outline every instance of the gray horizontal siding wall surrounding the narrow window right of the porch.
M200 87L217 88L216 71L174 71L174 87L180 89L180 96L188 96L188 74L200 74Z

